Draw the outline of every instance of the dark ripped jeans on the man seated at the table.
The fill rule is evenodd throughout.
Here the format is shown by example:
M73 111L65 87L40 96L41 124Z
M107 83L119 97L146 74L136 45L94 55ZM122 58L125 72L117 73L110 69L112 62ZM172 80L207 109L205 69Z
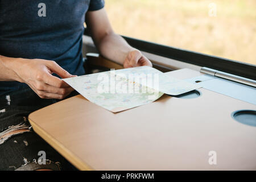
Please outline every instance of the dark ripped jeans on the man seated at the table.
M33 131L27 119L32 111L57 101L40 98L28 86L0 96L0 170L76 169Z

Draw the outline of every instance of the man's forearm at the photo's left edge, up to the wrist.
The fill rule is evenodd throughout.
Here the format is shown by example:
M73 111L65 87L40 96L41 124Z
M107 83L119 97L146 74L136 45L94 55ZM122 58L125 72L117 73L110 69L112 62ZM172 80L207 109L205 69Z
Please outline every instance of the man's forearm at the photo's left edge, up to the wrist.
M19 67L19 58L5 57L0 55L0 81L19 81L19 76L14 71Z

